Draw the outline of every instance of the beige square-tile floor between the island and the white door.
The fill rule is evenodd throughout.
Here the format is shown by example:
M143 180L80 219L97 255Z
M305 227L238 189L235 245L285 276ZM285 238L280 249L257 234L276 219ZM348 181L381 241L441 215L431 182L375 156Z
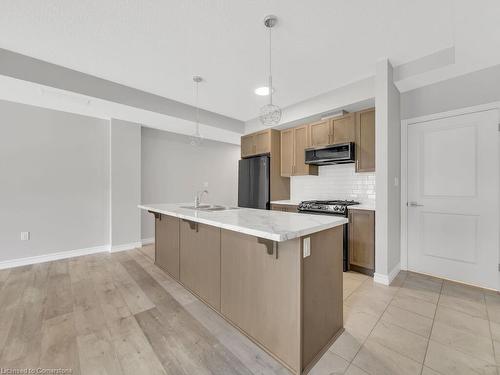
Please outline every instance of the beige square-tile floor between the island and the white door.
M495 292L407 272L383 286L348 272L344 326L312 375L500 374Z

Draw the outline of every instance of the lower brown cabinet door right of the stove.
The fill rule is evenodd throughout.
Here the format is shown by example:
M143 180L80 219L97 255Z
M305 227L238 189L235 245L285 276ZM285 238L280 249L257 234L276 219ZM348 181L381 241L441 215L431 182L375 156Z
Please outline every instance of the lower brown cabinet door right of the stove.
M349 263L375 269L375 212L349 210Z

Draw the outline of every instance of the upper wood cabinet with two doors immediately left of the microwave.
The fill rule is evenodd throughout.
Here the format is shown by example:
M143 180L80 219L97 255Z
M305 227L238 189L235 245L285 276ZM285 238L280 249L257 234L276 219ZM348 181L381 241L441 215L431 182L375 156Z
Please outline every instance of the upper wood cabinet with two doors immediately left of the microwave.
M309 126L281 131L281 176L317 175L316 165L305 164L305 149L309 147Z

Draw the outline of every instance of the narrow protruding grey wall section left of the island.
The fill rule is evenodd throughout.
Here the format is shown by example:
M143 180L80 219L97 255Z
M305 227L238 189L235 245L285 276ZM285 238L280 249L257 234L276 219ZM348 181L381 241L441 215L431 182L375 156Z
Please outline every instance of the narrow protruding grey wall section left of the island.
M110 245L141 240L141 126L112 119L110 136Z

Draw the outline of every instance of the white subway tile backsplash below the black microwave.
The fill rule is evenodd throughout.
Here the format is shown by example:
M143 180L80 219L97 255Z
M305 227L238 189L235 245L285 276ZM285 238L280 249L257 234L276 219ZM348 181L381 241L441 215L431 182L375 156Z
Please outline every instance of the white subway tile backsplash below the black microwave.
M375 172L355 173L354 164L319 167L318 176L290 177L290 199L353 199L375 202Z

